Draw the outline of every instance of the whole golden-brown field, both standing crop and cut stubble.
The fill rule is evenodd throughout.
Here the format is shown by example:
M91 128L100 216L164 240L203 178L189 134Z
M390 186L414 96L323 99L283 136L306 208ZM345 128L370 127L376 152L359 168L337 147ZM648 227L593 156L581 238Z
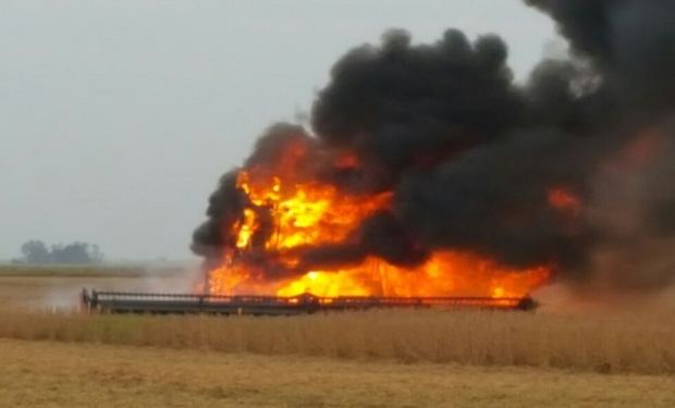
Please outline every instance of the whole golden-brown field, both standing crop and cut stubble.
M0 407L675 406L667 308L87 316L39 309L180 276L15 272L0 269Z

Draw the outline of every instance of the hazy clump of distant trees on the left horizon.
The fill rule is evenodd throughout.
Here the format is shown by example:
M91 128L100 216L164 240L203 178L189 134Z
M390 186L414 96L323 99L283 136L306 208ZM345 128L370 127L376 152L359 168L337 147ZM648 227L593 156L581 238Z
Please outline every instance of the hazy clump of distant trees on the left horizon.
M103 255L98 245L87 243L58 244L47 248L41 240L29 240L21 247L27 263L100 263Z

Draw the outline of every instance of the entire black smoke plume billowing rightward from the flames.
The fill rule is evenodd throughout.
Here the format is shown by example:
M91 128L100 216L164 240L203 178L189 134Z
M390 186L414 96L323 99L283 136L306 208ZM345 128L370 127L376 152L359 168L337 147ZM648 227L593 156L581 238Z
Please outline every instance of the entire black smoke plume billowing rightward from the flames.
M675 277L675 1L526 3L557 23L572 52L542 61L525 85L494 35L469 41L449 29L416 45L391 30L335 63L312 108L316 136L270 128L246 168L285 163L347 194L394 191L391 211L345 243L299 248L298 270L274 273L370 255L413 267L433 250L463 249L619 287ZM289 158L280 153L289 144L305 148ZM361 164L326 164L335 150ZM193 248L207 259L232 245L229 227L248 206L234 177L223 176L195 232ZM578 197L581 213L551 206L552 188Z

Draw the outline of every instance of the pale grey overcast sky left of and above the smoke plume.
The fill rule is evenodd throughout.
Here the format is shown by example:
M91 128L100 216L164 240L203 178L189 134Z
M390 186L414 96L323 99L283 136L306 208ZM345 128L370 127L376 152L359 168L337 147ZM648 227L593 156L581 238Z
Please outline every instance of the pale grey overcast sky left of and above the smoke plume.
M186 259L221 173L386 28L555 38L518 0L0 0L0 259L30 238Z

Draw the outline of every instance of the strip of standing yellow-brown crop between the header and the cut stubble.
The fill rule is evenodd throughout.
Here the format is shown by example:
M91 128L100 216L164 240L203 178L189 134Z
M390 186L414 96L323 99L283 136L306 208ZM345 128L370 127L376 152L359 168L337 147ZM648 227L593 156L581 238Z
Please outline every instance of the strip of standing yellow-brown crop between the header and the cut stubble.
M671 318L390 310L294 318L0 312L0 337L358 360L674 373Z

